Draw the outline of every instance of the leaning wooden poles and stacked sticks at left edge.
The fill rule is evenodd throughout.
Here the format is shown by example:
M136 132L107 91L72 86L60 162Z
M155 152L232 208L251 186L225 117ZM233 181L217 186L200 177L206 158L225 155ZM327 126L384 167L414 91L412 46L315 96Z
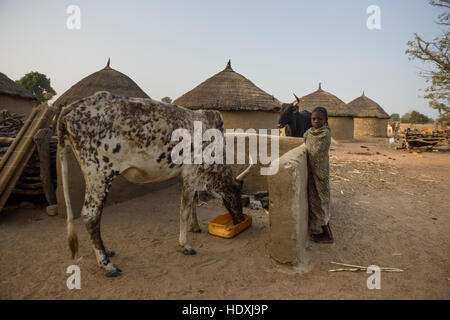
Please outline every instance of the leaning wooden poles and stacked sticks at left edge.
M45 196L56 204L55 109L36 107L29 118L0 110L0 211L10 195L19 200Z

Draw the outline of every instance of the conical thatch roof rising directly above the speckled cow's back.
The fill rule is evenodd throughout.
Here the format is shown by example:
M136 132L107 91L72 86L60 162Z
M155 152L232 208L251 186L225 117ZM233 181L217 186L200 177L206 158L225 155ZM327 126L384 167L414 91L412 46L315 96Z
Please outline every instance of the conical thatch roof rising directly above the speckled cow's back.
M53 103L54 106L66 106L74 101L93 95L97 91L109 91L112 94L133 98L149 98L128 76L109 66L78 81Z

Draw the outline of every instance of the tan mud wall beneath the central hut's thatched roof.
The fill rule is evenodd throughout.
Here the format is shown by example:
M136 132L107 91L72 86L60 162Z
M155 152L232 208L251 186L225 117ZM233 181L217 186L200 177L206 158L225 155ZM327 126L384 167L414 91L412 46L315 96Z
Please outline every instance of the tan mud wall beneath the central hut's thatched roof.
M277 129L279 112L268 111L221 111L225 129ZM270 131L267 132L270 134Z

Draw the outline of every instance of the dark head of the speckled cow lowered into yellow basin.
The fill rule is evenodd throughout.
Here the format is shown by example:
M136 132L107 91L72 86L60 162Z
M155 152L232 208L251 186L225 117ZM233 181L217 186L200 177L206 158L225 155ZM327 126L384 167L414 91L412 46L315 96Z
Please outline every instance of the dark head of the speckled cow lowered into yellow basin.
M244 220L242 214L242 186L244 178L250 173L253 168L253 161L250 159L250 165L235 179L233 179L231 166L225 166L227 173L224 175L224 182L219 188L219 193L223 199L223 205L233 218L233 223L238 224Z

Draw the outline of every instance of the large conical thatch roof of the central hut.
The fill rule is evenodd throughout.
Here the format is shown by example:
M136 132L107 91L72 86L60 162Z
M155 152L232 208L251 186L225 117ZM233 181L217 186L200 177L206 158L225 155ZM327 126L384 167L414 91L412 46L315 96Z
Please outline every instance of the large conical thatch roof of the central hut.
M185 93L174 104L189 109L219 111L280 111L281 102L234 72L231 62L226 68Z

